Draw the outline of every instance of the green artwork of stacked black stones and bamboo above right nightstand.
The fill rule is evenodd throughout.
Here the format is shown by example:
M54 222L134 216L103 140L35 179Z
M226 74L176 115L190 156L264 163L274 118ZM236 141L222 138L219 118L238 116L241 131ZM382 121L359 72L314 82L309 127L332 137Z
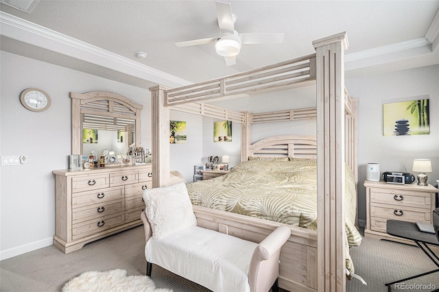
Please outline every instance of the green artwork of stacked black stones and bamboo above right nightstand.
M383 104L383 135L430 134L429 99Z

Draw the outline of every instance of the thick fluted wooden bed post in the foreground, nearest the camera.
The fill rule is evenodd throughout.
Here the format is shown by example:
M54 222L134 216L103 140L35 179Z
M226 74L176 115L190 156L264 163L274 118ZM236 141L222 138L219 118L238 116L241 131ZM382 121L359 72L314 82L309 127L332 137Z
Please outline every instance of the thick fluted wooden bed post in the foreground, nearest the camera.
M344 51L346 33L313 41L317 84L318 291L346 291Z

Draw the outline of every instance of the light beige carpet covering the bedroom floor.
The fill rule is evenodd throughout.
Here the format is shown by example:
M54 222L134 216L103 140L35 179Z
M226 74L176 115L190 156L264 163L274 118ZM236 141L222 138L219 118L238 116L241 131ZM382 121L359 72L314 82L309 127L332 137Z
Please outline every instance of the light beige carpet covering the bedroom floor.
M143 276L146 274L144 248L143 226L88 243L81 250L70 254L60 252L53 245L44 247L0 261L0 291L59 292L69 280L86 271L124 269L128 276ZM348 292L385 292L386 282L436 268L418 247L391 241L365 238L359 247L352 247L350 252L356 273L368 285L358 280L348 281ZM172 289L174 292L209 292L156 265L152 268L151 279L157 288ZM416 282L432 283L437 289L439 273L419 278ZM414 280L407 281L407 284L410 283L414 283ZM399 290L392 288L392 291Z

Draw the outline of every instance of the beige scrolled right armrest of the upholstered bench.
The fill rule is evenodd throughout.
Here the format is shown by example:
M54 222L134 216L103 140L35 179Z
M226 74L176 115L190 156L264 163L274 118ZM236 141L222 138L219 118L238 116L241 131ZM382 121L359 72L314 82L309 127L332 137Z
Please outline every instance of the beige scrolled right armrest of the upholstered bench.
M281 247L291 236L287 226L279 226L254 249L248 270L250 291L269 291L279 275Z

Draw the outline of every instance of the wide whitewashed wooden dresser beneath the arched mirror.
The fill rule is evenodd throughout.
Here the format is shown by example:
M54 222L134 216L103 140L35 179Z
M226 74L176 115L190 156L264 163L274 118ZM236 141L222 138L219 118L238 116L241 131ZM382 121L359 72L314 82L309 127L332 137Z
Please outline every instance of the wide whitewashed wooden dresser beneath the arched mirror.
M151 165L57 170L56 234L62 252L142 224L142 193L152 187Z

